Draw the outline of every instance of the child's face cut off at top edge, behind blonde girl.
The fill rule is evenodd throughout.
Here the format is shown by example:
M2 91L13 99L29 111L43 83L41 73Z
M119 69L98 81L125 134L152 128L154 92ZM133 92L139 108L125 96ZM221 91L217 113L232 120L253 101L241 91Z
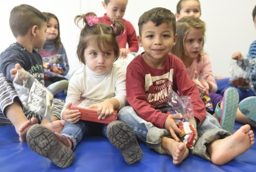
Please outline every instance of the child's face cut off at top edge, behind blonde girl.
M199 0L180 0L176 6L175 16L177 20L184 16L195 16L195 18L200 18L201 7Z

